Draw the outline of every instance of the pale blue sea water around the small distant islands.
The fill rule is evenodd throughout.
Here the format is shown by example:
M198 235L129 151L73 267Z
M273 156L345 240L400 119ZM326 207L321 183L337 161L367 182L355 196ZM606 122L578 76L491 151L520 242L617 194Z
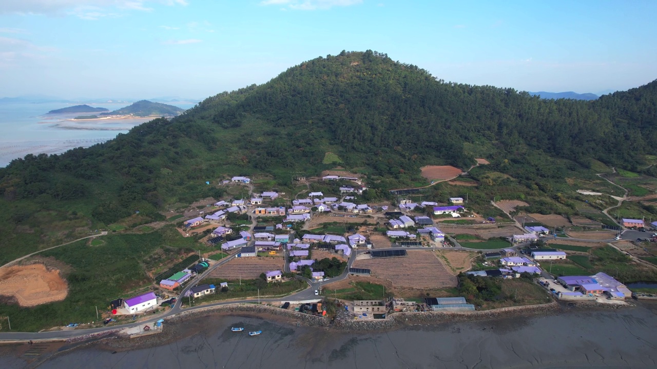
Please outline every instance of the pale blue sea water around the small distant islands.
M195 102L176 103L188 109ZM124 118L72 121L76 114L47 114L50 110L74 104L64 102L3 103L0 104L0 167L27 154L60 154L76 147L89 147L127 133L152 118ZM127 103L89 104L110 111L123 108Z

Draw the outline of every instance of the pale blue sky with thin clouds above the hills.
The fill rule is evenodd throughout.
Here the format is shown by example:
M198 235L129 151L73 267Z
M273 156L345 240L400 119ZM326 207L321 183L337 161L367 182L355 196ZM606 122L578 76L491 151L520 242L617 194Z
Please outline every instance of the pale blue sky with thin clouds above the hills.
M445 81L600 93L657 79L657 1L4 0L0 96L204 98L372 49Z

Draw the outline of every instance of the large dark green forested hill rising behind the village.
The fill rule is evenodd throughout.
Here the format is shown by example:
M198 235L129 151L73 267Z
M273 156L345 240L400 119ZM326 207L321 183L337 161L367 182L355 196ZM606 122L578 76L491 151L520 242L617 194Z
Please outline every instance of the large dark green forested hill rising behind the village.
M14 160L0 169L0 234L5 244L38 239L14 228L43 227L43 211L64 213L76 227L137 210L158 219L167 204L221 195L205 181L260 174L289 186L294 175L334 167L323 162L327 152L367 173L379 196L418 183L422 165L467 169L479 156L527 188L563 181L593 160L635 169L656 151L656 90L653 81L595 101L544 100L447 83L372 51L319 57L112 141Z

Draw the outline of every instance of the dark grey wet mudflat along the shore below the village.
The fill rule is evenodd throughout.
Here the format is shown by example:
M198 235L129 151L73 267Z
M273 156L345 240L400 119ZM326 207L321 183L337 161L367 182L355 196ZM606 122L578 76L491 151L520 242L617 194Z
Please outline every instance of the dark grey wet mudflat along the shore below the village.
M231 326L244 326L245 332L231 332ZM655 303L349 333L297 327L273 315L210 313L168 324L160 337L110 339L41 363L0 351L5 352L0 367L655 368L656 328ZM263 333L246 334L256 329Z

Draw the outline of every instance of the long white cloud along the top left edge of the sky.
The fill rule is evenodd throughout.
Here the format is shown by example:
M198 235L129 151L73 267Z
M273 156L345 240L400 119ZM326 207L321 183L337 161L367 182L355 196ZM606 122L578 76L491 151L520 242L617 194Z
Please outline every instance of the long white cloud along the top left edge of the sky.
M0 1L0 14L70 14L83 19L98 19L117 11L152 11L148 4L186 6L188 3L186 0L5 0Z

